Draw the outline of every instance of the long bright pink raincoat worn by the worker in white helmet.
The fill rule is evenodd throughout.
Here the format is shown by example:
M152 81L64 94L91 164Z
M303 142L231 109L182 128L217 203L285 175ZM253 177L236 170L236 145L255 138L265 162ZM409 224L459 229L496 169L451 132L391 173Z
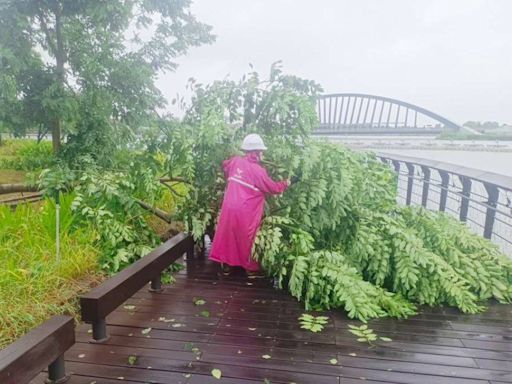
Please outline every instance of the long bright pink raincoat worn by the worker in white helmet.
M273 181L258 162L259 153L249 152L222 164L228 185L209 257L247 271L260 268L251 258L251 250L261 224L265 194L280 194L288 187L286 181Z

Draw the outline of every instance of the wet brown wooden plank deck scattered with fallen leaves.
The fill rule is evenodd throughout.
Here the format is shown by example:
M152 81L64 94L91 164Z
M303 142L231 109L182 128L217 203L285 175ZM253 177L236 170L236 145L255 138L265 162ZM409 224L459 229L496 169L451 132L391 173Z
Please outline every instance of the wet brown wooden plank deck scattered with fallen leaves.
M90 327L79 326L68 383L512 383L512 306L372 321L392 339L374 348L356 341L347 325L357 322L341 311L328 312L318 334L300 329L302 313L268 281L219 277L215 265L194 260L164 292L143 289L108 316L108 342L90 343Z

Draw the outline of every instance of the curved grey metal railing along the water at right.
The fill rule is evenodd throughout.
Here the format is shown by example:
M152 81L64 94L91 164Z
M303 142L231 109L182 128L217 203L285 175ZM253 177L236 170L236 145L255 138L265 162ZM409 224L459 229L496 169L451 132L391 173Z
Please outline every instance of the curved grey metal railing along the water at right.
M512 256L512 177L435 160L377 153L398 174L398 200L443 211Z

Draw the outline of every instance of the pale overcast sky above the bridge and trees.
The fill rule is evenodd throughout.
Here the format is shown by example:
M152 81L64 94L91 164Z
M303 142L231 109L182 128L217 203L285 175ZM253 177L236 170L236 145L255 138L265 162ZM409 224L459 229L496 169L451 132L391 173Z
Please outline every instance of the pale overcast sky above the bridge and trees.
M161 76L170 100L190 77L238 79L254 64L417 104L458 123L512 123L512 0L195 0L217 41Z

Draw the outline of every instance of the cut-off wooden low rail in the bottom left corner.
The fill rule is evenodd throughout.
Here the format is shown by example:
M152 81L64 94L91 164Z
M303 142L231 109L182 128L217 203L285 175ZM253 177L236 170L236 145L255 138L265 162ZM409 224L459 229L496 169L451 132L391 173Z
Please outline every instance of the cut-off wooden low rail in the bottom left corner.
M74 343L73 318L51 318L0 351L0 383L26 384L46 367L48 383L64 383L64 352Z

